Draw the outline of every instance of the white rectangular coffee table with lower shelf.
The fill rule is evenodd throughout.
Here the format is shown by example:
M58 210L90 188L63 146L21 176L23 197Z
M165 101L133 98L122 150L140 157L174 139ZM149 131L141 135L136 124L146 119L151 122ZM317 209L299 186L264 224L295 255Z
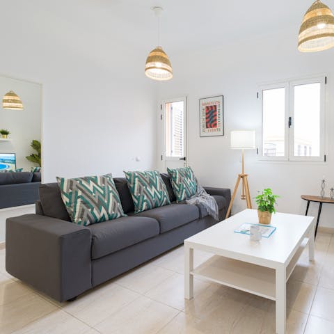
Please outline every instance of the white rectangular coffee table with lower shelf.
M268 239L250 241L233 232L242 223L258 223L257 210L239 214L207 228L184 241L184 296L193 298L193 277L234 287L276 301L276 333L286 330L286 283L308 245L314 260L314 218L296 214L273 214L276 231ZM207 262L193 268L193 250L213 253Z

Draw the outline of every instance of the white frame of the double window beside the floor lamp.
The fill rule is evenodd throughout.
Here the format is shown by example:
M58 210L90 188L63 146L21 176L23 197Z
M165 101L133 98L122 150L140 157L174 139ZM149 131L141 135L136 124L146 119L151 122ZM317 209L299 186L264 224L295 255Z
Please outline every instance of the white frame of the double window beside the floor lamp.
M261 143L259 145L259 159L263 161L325 161L326 162L326 81L325 74L305 77L303 79L289 79L276 83L260 84L259 100L261 109ZM294 156L294 86L320 83L320 152L319 157ZM282 157L267 157L263 155L263 91L275 88L285 88L285 155ZM292 125L289 127L289 117Z

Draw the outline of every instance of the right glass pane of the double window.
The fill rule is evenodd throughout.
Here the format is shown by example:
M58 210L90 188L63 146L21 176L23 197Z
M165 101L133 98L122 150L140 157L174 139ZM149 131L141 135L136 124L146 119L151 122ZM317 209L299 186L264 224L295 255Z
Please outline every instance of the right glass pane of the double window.
M320 83L294 86L294 156L320 155Z

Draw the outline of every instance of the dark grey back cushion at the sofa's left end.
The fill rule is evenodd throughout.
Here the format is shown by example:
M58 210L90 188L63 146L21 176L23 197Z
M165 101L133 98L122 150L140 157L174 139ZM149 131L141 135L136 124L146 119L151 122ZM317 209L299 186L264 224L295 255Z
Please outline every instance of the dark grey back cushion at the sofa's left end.
M65 204L61 199L58 183L40 184L40 204L45 216L71 221Z

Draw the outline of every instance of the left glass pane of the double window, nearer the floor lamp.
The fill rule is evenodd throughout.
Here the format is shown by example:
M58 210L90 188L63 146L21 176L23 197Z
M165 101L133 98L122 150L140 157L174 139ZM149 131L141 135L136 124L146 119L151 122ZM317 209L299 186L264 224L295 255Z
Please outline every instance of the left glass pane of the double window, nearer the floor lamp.
M285 88L262 91L262 155L285 156Z

